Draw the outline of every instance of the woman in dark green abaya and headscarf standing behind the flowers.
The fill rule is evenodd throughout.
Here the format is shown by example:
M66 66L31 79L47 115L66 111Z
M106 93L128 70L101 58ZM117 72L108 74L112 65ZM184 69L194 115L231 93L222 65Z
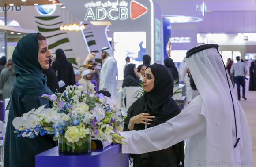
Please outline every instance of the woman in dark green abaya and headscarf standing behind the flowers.
M22 116L31 109L45 105L49 101L42 94L52 94L47 87L43 69L49 68L51 53L45 37L40 33L23 36L12 54L16 80L12 88L11 100L8 103L9 116L5 135L4 166L35 166L35 155L56 146L53 137L34 138L17 137L12 120Z

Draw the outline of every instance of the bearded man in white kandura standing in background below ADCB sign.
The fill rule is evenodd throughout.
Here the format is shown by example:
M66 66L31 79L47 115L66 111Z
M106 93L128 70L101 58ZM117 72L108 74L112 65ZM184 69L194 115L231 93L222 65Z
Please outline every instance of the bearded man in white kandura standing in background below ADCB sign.
M117 98L117 61L109 47L102 48L102 60L105 62L102 65L99 90L109 91L111 96Z

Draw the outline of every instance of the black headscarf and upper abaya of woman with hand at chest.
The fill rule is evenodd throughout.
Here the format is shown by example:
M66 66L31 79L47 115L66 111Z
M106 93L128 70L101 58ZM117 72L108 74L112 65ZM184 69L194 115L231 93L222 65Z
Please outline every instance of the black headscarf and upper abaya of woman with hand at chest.
M171 98L173 96L173 76L169 70L161 64L154 63L148 66L154 75L154 87L150 92L144 92L143 96L131 106L131 116L140 113L149 113L155 116L151 125L153 127L180 113L179 106ZM128 117L127 117L128 118ZM130 118L128 118L129 120ZM144 124L135 124L134 130L145 129Z

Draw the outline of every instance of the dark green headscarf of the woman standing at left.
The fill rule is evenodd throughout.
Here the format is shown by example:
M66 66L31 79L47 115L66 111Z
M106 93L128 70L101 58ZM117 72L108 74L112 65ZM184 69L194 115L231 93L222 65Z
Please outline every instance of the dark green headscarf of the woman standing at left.
M30 33L23 36L15 47L12 60L16 81L14 87L26 94L52 94L47 87L47 77L42 73L38 62L38 34Z

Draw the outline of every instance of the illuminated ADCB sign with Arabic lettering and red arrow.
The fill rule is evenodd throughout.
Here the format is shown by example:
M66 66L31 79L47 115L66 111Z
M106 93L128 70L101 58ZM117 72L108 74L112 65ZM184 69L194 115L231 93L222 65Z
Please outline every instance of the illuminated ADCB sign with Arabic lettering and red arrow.
M130 4L128 5L128 3ZM106 2L91 1L85 3L84 7L87 9L84 18L85 20L105 20L105 18L107 17L110 20L126 20L129 17L129 15L131 19L136 19L147 13L147 7L143 6L139 2L136 2L135 0L132 0L131 2L127 2L124 0L108 0Z

